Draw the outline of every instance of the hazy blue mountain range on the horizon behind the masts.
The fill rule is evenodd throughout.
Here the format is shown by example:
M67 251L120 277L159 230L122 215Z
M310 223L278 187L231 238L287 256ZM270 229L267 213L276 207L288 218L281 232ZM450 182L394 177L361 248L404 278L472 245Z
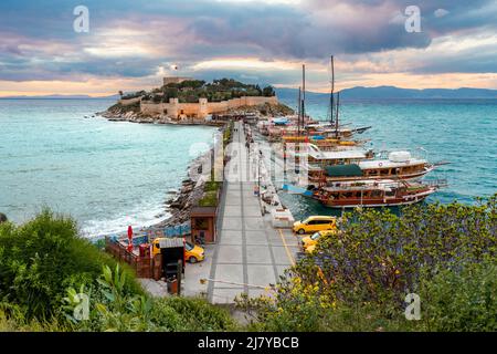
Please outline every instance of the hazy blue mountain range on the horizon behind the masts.
M276 88L276 94L282 101L297 101L298 90ZM329 96L327 93L306 92L306 98L322 100ZM400 88L394 86L363 87L357 86L340 92L340 98L345 100L472 100L497 98L497 90L488 88Z

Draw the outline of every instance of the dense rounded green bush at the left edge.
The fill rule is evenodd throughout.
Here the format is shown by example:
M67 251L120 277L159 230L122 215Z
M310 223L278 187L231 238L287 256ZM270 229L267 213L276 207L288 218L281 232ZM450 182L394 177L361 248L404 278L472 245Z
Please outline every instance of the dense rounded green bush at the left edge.
M67 287L95 283L116 261L81 238L73 219L43 210L23 226L0 225L0 299L19 305L28 320L50 319ZM140 292L126 270L127 291Z

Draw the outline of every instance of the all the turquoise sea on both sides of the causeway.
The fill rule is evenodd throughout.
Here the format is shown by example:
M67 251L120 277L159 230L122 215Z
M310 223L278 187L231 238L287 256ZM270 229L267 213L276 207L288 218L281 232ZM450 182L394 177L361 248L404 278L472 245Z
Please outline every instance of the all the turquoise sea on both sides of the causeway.
M211 144L215 129L84 117L113 103L0 100L0 211L22 222L50 206L88 235L165 218L167 191L180 186L195 156L191 144ZM326 101L309 100L307 112L326 119ZM429 201L470 204L497 191L497 100L346 101L340 117L371 125L359 137L377 149L423 147L430 160L451 162L432 173L450 185ZM283 201L296 218L325 212L304 197Z

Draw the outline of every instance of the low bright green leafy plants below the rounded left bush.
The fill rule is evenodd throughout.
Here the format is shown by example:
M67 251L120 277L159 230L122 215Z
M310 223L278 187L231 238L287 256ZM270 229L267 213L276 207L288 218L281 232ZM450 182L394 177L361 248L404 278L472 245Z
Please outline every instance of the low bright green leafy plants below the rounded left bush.
M88 319L75 319L73 312L80 303L78 293L67 290L64 299L66 315L74 331L226 331L235 329L228 312L201 299L165 298L152 299L126 293L126 277L116 267L110 271L104 267L98 285L87 293Z

